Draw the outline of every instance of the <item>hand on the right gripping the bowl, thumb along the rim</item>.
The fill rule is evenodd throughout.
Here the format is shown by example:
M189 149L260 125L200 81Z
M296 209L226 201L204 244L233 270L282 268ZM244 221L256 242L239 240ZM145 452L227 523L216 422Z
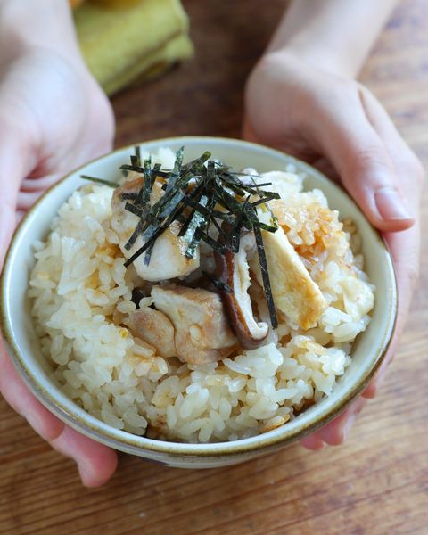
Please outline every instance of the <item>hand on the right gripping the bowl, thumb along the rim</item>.
M338 445L366 399L376 394L407 317L418 274L424 169L366 87L284 50L268 53L251 73L243 137L288 152L341 180L391 250L399 312L383 365L341 416L301 440L309 449Z

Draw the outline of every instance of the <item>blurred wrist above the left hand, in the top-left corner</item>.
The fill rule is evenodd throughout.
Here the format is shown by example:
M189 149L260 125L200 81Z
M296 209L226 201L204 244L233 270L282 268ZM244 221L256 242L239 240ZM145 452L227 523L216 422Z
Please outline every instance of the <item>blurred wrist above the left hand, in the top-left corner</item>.
M0 0L0 60L43 48L83 64L68 0Z

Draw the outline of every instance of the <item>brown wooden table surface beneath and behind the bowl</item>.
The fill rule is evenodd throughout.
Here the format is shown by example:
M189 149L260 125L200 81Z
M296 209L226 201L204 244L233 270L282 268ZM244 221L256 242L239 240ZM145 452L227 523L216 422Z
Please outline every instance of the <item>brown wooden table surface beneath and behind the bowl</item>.
M259 4L264 8L260 9ZM185 2L197 55L148 86L113 99L117 143L161 136L239 136L244 79L281 1ZM267 7L269 5L269 7ZM407 0L362 80L428 162L428 2ZM424 224L428 224L424 195ZM0 402L2 535L428 533L428 248L399 355L379 397L341 448L298 445L235 467L185 471L121 456L99 490L81 487L53 452Z

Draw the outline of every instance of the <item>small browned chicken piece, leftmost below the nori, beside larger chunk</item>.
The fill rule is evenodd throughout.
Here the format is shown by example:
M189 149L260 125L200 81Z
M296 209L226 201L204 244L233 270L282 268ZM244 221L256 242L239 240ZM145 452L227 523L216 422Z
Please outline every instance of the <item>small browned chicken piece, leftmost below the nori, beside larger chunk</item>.
M129 315L126 325L131 333L149 343L164 358L177 355L174 326L159 310L145 307Z

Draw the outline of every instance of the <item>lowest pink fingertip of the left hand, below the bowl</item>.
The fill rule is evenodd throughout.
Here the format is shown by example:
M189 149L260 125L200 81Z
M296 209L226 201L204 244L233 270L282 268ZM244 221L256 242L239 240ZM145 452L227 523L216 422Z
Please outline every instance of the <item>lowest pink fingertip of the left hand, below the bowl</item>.
M115 473L117 453L66 425L61 435L51 441L53 449L78 464L78 472L86 487L100 487Z

